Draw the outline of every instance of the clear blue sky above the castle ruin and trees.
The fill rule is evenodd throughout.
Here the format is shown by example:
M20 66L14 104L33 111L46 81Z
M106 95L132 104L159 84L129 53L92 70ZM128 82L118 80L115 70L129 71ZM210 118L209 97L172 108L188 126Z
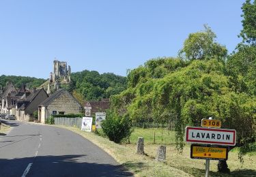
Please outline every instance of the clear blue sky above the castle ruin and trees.
M48 78L56 58L72 71L126 76L149 59L176 57L203 24L232 52L244 1L2 0L0 75Z

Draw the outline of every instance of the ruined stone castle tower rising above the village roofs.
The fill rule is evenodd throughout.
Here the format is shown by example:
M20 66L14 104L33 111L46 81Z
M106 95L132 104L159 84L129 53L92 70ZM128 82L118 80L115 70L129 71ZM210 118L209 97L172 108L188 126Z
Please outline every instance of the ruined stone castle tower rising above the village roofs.
M66 61L53 61L53 72L50 73L47 93L53 93L58 90L60 84L70 82L71 67Z

